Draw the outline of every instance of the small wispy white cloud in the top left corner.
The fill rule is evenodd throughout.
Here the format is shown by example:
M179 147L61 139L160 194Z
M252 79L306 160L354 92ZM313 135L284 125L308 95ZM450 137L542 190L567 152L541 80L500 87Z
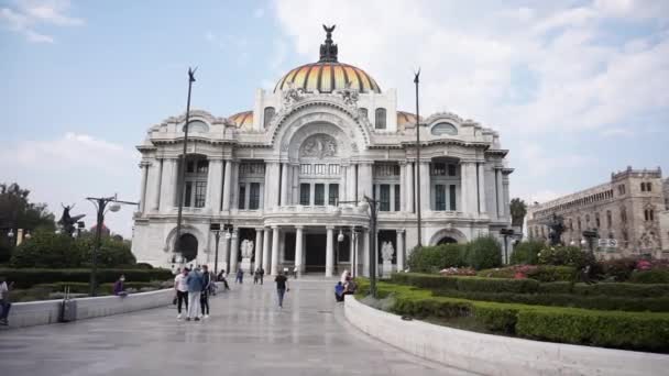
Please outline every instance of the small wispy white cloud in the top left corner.
M15 7L0 9L0 23L7 29L23 34L32 43L54 43L52 35L39 32L42 25L78 26L84 20L66 15L70 3L68 0L25 0L18 1Z

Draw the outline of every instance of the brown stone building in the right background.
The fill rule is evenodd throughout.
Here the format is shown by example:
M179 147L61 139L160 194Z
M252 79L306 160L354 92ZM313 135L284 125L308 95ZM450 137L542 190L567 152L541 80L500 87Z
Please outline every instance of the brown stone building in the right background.
M611 181L558 199L530 204L530 239L548 239L548 221L564 219L564 244L581 244L583 231L596 230L596 251L605 258L630 255L669 257L669 179L661 169L627 169L611 174Z

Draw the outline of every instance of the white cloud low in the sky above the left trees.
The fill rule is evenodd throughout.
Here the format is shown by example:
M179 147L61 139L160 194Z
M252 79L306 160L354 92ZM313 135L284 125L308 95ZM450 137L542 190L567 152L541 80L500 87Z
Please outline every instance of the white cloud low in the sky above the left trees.
M76 213L85 213L95 224L94 207L86 197L119 193L134 201L139 196L139 154L129 147L87 134L66 133L52 140L23 141L0 151L0 170L6 181L17 181L31 190L31 200L46 202L59 215L61 202L76 202ZM136 170L136 179L128 172ZM106 223L123 236L131 235L134 208L110 213Z

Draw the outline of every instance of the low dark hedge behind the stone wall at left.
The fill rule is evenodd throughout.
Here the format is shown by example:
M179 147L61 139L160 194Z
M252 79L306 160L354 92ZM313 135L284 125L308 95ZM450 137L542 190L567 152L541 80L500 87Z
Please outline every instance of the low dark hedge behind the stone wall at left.
M98 269L99 284L113 283L120 275L125 276L127 283L167 280L174 278L168 269ZM88 283L90 269L0 269L0 276L14 283L14 288L29 288L39 284L59 281Z

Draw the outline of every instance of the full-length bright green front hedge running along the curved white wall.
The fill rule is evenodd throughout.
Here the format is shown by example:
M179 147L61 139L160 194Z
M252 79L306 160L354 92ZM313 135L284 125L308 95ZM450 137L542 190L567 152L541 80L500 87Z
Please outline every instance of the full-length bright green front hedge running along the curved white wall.
M381 283L392 311L417 318L471 317L486 329L520 338L604 347L669 352L669 314L597 311L437 297L425 289Z

